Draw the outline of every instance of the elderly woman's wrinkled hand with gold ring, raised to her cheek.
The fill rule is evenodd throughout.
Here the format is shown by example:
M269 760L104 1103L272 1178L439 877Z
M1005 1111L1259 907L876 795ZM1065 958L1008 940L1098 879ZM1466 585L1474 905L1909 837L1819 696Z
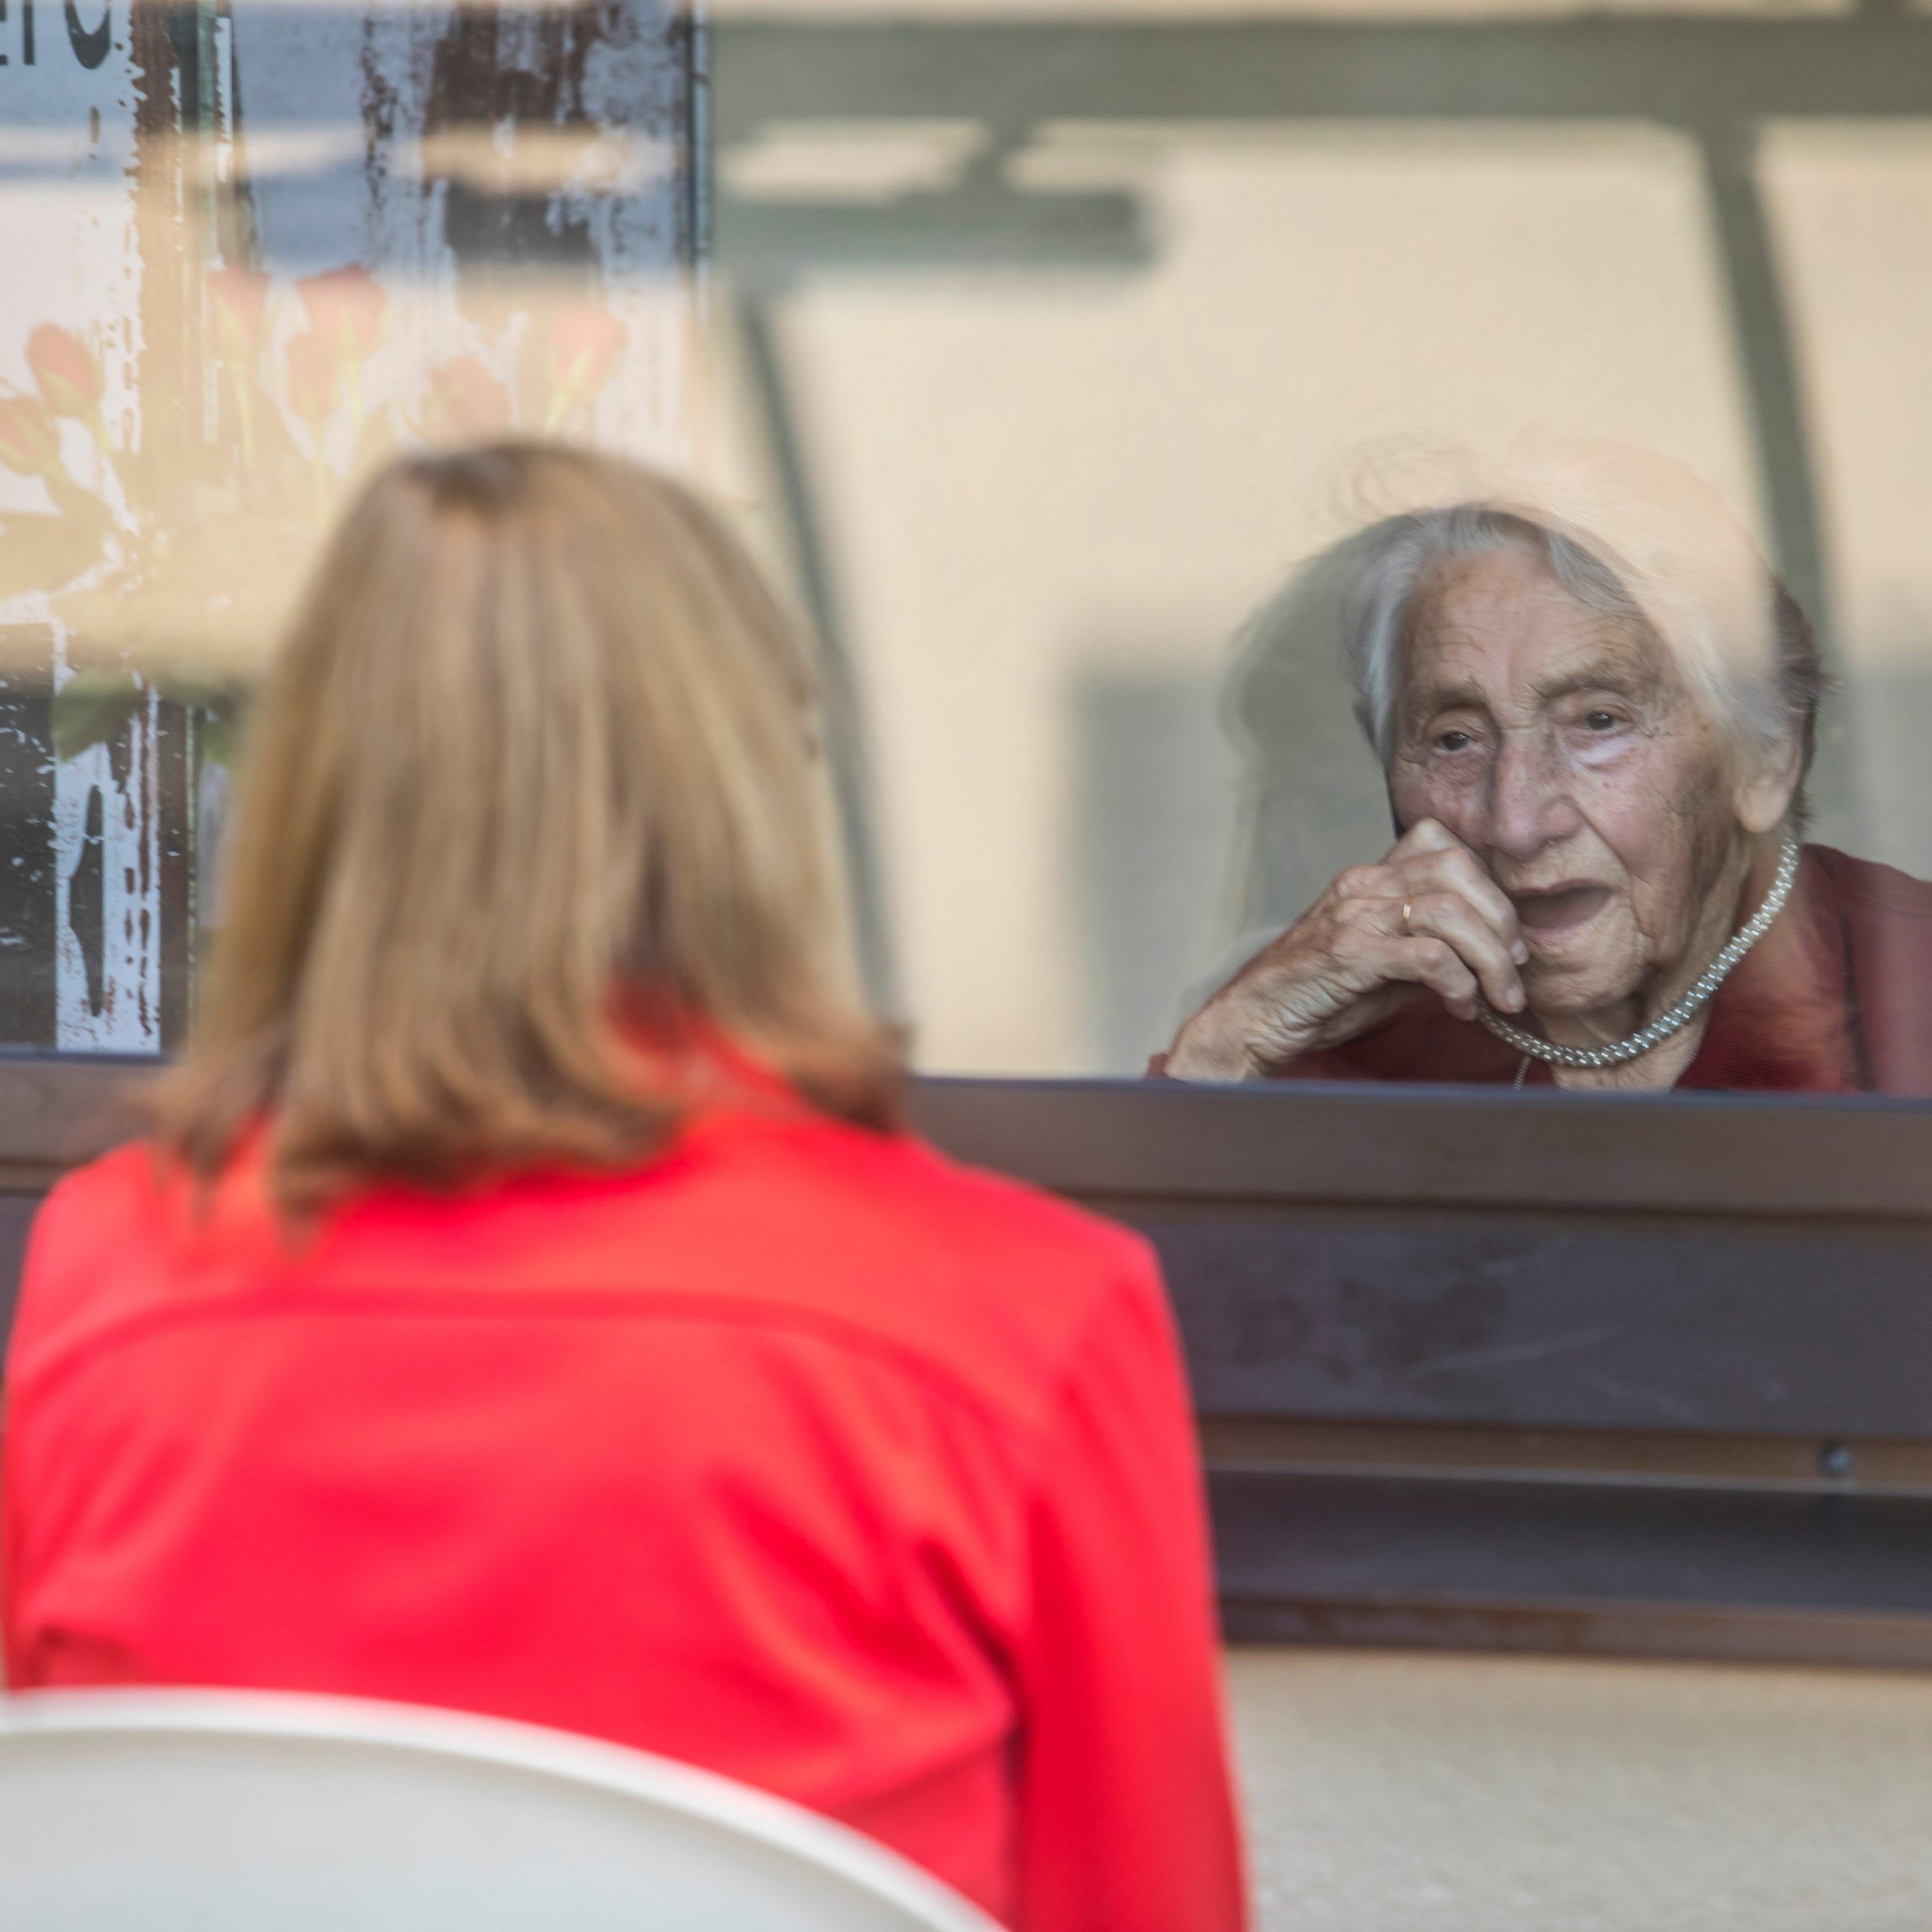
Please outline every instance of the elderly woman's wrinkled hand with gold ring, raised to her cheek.
M1408 908L1405 923L1403 908ZM1350 866L1188 1020L1180 1080L1246 1080L1354 1039L1418 987L1459 1018L1522 1010L1517 908L1447 827L1422 819L1379 866Z

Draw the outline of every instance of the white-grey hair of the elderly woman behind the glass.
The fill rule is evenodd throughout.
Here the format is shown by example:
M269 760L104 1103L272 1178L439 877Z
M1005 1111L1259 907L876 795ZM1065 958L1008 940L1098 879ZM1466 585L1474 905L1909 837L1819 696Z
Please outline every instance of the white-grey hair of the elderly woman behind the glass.
M1747 757L1777 757L1799 748L1803 811L1804 773L1816 738L1824 672L1818 645L1797 599L1777 578L1756 566L1762 607L1741 622L1671 622L1667 599L1652 589L1640 597L1604 556L1582 539L1534 516L1493 502L1459 502L1383 518L1347 545L1352 562L1343 620L1354 715L1387 769L1395 755L1395 719L1405 651L1412 641L1416 595L1449 558L1526 549L1586 611L1629 624L1669 649L1685 682L1706 713ZM1646 609L1650 605L1650 609ZM1679 599L1689 607L1687 599ZM1681 614L1681 612L1679 612Z

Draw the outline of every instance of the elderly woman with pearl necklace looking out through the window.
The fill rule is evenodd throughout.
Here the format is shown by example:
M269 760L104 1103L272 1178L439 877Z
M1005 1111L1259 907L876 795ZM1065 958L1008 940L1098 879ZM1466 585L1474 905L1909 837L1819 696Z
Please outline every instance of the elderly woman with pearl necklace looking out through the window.
M1652 497L1613 541L1605 500L1354 539L1349 668L1401 837L1157 1070L1932 1092L1932 887L1799 842L1804 614L1735 526Z

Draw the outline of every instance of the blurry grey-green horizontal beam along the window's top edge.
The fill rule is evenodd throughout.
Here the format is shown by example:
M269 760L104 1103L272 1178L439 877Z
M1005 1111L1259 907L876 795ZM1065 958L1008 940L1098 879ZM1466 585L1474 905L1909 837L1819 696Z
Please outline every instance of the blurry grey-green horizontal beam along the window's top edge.
M1559 21L728 19L717 139L779 120L1640 118L1924 114L1932 17Z

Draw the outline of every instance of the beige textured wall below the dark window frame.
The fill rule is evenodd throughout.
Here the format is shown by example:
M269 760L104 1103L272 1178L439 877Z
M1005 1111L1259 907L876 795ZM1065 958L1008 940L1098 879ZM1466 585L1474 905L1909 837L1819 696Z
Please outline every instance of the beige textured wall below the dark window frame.
M1924 1932L1932 1675L1235 1650L1258 1932Z

